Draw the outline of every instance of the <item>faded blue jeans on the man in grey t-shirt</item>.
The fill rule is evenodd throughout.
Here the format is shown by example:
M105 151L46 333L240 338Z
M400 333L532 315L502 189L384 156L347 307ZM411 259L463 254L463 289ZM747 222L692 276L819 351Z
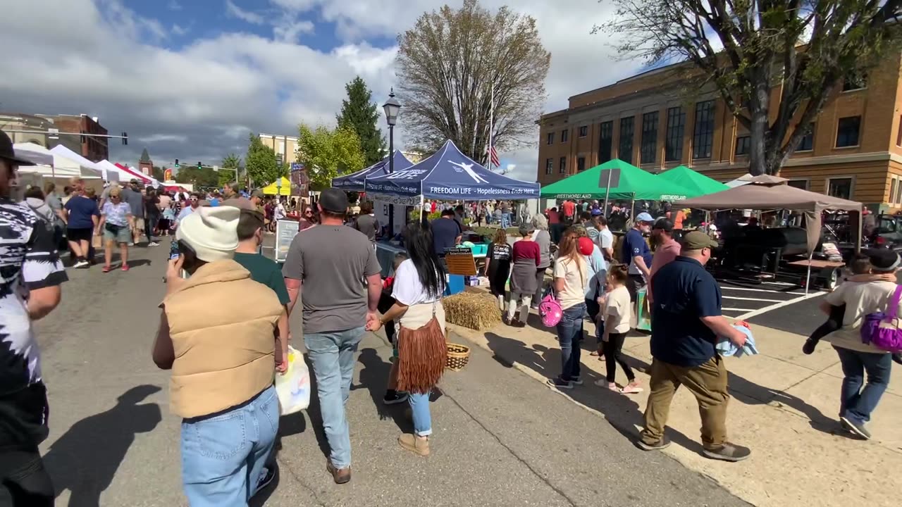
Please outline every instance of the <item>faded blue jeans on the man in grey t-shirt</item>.
M351 434L345 417L345 403L351 393L354 353L364 336L364 327L345 331L304 334L304 345L313 373L317 376L319 410L329 442L332 466L351 466Z

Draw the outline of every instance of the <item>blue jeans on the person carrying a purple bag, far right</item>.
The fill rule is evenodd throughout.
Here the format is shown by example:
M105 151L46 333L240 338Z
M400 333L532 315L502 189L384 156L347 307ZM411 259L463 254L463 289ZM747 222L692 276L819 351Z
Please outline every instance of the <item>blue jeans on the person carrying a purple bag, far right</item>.
M873 354L857 352L834 346L842 364L842 393L840 417L858 423L870 420L870 412L877 408L880 397L887 390L889 372L892 370L892 356L888 353ZM868 383L864 383L864 373L868 373ZM861 385L864 384L864 389Z

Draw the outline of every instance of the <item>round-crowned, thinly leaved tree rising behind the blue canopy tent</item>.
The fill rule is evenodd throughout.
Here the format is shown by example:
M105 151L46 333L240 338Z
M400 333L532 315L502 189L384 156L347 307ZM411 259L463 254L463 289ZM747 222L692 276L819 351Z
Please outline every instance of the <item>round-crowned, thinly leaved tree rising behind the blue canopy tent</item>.
M551 55L536 20L476 0L419 17L398 37L405 133L424 151L447 139L484 163L494 88L492 144L498 152L535 143Z

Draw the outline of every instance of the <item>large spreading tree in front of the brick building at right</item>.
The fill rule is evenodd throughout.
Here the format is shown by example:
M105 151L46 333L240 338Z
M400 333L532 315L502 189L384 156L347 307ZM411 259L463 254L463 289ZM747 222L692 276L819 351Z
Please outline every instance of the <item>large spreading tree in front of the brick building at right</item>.
M713 86L750 133L750 172L774 174L844 78L897 51L902 0L600 0L624 57ZM896 60L898 54L895 53ZM777 100L773 92L778 90Z

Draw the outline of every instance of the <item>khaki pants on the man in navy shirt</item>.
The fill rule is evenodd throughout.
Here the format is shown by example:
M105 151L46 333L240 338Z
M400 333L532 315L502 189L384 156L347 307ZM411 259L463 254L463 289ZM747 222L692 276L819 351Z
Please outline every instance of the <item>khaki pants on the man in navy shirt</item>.
M698 412L702 416L702 443L704 448L723 446L727 439L727 368L720 355L714 355L707 363L686 368L668 364L658 359L651 362L651 393L649 405L645 408L645 429L642 441L657 443L664 437L670 401L676 389L685 385L698 401Z

